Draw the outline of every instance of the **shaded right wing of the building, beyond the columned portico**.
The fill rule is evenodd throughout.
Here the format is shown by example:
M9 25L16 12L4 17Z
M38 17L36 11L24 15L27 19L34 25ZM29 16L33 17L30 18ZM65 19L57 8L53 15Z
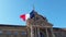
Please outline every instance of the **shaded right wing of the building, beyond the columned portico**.
M54 28L55 37L66 37L66 30L64 28Z

